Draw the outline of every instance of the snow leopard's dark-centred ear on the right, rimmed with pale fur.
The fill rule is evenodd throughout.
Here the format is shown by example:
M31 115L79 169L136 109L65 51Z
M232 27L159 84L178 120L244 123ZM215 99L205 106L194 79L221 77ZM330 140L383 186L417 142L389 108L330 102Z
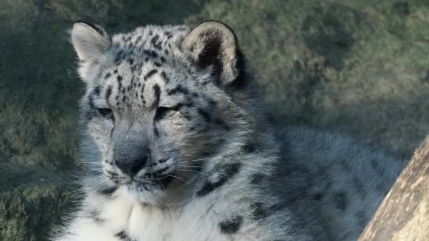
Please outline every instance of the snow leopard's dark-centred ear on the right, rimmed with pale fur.
M199 68L210 68L221 85L229 85L238 77L236 36L224 23L201 23L183 39L181 47Z

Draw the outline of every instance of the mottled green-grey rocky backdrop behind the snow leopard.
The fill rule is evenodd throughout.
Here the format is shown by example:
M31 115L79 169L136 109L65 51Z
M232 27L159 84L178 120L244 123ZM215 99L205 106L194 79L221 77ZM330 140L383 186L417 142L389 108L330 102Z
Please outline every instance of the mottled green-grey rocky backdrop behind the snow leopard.
M410 155L429 132L429 1L0 0L0 240L70 211L83 84L66 30L221 20L274 118Z

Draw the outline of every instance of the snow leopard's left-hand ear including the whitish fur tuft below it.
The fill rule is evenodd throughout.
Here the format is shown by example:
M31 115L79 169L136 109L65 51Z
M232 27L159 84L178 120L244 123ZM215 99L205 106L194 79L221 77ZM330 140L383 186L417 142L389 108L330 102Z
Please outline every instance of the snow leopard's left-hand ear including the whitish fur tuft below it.
M79 57L80 78L91 82L97 75L100 58L111 46L111 38L99 25L78 22L71 30L71 43Z

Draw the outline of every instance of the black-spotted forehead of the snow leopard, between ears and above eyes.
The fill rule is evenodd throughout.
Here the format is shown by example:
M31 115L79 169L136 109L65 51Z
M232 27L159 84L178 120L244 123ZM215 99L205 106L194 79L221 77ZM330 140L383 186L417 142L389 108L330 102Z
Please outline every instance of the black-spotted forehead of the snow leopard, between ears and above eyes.
M114 35L99 78L90 89L97 106L121 113L189 102L205 80L196 76L179 44L187 26L147 26ZM162 102L162 103L159 103Z

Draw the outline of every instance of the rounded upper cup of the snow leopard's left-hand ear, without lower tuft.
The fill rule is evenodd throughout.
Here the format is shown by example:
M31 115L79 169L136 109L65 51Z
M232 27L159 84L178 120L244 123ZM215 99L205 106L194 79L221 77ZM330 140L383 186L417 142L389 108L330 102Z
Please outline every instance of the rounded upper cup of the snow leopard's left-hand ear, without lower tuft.
M111 46L111 38L104 28L85 22L73 25L71 42L80 61L94 61Z

